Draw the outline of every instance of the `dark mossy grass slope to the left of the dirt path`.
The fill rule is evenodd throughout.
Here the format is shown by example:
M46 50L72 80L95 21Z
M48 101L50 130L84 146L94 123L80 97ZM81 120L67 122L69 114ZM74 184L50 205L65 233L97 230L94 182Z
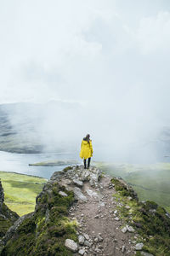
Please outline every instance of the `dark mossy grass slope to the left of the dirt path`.
M59 190L67 196L59 195ZM72 191L59 187L58 183L47 183L45 191L37 197L36 211L20 224L1 256L73 255L65 247L65 239L77 241L77 222L68 218L73 202Z

